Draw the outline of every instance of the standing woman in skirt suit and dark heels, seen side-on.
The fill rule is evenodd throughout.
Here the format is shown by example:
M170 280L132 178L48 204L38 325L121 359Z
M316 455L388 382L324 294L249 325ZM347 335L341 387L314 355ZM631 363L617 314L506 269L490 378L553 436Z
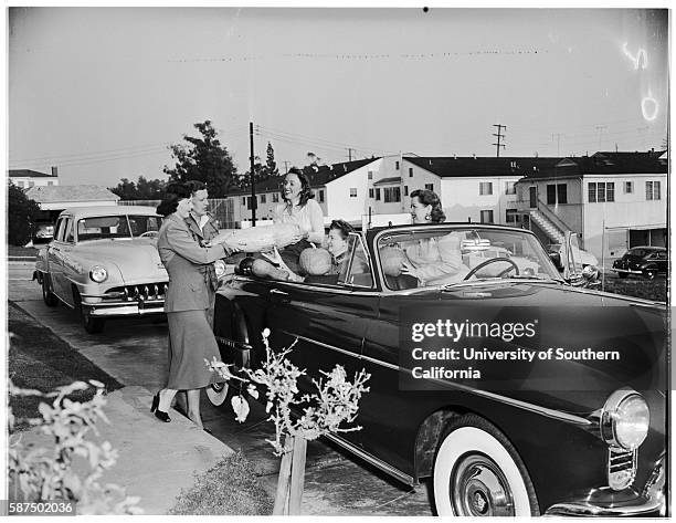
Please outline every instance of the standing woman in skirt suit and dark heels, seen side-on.
M193 238L186 219L192 210L191 188L171 184L157 212L165 217L157 249L169 273L165 312L169 323L169 377L167 386L155 395L150 410L162 421L178 390L188 393L188 417L200 428L200 390L221 380L204 364L220 359L219 347L209 325L209 273L204 266L231 253L219 242L201 247Z

